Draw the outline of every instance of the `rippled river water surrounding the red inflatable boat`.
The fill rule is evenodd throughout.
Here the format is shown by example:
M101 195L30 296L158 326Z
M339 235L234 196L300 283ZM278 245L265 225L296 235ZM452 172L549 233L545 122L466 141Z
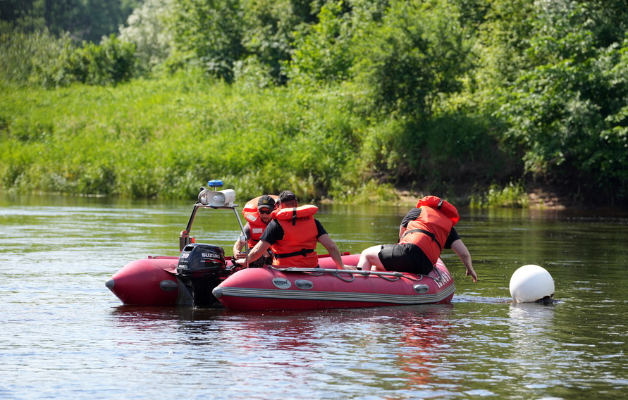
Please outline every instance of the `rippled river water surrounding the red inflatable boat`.
M241 209L241 208L240 208ZM624 399L628 215L460 209L448 305L299 312L122 306L104 282L176 255L190 201L0 195L1 399ZM407 208L321 206L341 251L395 242ZM230 211L197 242L230 252ZM512 304L537 264L554 304Z

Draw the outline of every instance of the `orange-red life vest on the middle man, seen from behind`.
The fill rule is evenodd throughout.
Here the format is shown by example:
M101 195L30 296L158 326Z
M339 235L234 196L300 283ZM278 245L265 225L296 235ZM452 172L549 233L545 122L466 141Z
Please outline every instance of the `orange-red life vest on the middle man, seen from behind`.
M275 211L275 218L283 228L283 239L271 245L273 265L314 268L319 265L316 254L316 222L319 208L305 205Z

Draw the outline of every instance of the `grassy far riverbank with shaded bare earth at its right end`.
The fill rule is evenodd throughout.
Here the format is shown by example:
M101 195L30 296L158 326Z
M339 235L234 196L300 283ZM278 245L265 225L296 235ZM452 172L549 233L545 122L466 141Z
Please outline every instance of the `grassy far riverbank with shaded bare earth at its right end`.
M622 201L592 194L586 183L519 183L522 166L505 161L492 131L472 119L369 120L333 89L306 96L180 73L115 88L0 91L1 192L193 199L199 181L219 177L242 198L290 187L302 199L337 204L412 206L424 194L481 207ZM400 181L421 184L389 183ZM622 193L626 185L605 183L606 192L613 187Z

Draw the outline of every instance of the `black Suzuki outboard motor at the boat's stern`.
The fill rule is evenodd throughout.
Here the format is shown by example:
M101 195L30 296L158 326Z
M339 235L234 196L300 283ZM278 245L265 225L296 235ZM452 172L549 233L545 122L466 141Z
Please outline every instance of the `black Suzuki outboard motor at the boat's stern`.
M226 272L225 251L212 244L190 243L181 251L177 275L192 294L197 307L210 307L218 301L211 291Z

